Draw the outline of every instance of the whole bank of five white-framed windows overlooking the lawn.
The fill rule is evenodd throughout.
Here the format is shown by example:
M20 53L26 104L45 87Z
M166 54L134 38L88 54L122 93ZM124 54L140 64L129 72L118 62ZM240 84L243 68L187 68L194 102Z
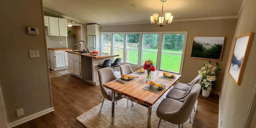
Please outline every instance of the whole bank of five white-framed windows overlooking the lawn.
M157 70L181 74L187 32L102 32L102 51L119 54L122 62L143 66L152 60Z

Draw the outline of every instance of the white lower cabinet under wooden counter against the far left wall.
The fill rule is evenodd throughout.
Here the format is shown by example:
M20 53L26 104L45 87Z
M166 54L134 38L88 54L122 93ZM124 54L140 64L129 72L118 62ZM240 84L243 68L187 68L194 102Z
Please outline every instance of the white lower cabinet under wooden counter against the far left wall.
M65 59L65 51L64 50L48 50L49 58L50 58L50 68L52 70L67 68L68 61Z

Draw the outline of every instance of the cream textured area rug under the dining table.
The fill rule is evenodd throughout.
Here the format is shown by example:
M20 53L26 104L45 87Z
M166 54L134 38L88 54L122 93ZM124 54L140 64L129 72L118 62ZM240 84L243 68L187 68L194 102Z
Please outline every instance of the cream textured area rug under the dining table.
M197 108L196 101L195 109ZM102 111L100 111L101 104L95 106L91 110L78 116L76 120L82 123L86 128L146 128L148 119L148 108L133 102L134 106L131 106L129 100L129 108L127 109L127 99L123 98L117 101L115 124L111 124L111 108L112 102L105 100ZM160 118L156 116L156 108L160 104L157 101L152 106L151 116L151 128L157 128ZM191 114L191 123L189 119L183 124L184 128L192 128L193 120L196 112L194 110ZM160 128L178 128L178 125L161 120Z

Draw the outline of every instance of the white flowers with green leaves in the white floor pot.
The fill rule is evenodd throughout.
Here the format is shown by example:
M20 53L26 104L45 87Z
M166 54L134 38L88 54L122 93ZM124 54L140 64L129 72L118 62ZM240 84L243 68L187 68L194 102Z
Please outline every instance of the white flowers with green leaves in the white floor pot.
M207 90L208 86L213 86L217 79L217 74L220 71L220 64L216 62L216 66L212 66L211 62L206 62L204 66L198 70L198 74L202 74L201 86Z

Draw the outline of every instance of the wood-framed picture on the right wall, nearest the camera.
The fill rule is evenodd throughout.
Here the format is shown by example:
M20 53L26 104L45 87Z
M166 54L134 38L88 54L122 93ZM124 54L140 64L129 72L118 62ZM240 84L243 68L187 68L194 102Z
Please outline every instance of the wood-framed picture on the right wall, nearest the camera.
M254 32L250 32L238 36L235 40L228 73L234 79L237 85L241 84L253 37Z

